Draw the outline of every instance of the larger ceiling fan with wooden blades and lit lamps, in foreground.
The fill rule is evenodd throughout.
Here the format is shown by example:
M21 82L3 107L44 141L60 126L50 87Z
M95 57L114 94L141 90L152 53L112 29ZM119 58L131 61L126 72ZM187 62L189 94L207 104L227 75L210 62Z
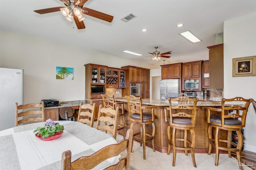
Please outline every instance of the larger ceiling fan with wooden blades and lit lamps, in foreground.
M74 19L78 29L85 28L84 21L83 21L84 16L82 16L82 13L88 16L98 18L100 20L107 21L107 22L112 22L114 18L113 16L110 16L108 14L104 14L102 12L98 12L96 10L83 7L84 3L87 2L88 0L60 0L60 1L64 3L65 7L58 6L53 8L34 10L34 12L37 12L38 14L47 14L50 12L61 11L61 13L64 16L66 16L67 20L72 22Z

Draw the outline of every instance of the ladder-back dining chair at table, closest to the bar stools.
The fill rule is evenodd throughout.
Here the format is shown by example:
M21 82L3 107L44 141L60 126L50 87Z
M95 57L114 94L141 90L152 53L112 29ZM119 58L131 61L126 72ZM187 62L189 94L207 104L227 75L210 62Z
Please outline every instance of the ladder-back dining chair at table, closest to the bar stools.
M106 133L109 132L114 139L116 139L118 111L119 107L116 107L116 109L110 107L104 108L101 104L99 107L96 129L104 130Z

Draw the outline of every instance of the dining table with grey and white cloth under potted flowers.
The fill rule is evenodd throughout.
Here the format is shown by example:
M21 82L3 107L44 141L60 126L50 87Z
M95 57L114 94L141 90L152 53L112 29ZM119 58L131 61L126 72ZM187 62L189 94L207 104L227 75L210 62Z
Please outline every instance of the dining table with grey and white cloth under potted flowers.
M32 123L0 131L0 170L60 170L62 152L71 150L72 160L88 156L117 143L109 134L77 121L56 121L63 134L51 141L38 139L34 132L45 122ZM94 167L104 169L116 164L120 155Z

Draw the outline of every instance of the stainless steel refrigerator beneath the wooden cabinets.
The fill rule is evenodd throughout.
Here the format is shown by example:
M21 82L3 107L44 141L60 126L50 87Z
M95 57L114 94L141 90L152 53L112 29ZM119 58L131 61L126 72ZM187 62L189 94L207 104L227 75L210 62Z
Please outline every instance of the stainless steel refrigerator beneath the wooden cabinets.
M177 98L180 95L180 79L160 80L160 99Z

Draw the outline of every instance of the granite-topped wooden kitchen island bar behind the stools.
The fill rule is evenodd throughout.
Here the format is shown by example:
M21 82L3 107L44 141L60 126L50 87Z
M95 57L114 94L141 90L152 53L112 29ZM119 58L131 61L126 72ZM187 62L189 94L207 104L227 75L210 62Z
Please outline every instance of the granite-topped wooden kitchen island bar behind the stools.
M116 101L127 102L126 98L115 98ZM156 133L154 136L154 146L155 149L159 152L167 152L168 149L168 137L167 137L167 126L168 123L165 122L164 119L164 107L169 107L168 100L157 100L157 99L142 99L142 104L144 106L158 106L154 109L155 120L154 124L156 126ZM175 105L175 102L172 103ZM189 104L188 104L189 105ZM207 153L208 152L208 123L207 123L207 113L203 106L211 106L211 107L220 107L221 101L198 101L197 107L198 111L196 113L196 149L195 153ZM130 119L128 113L127 104L124 105L125 111L125 129L127 131L130 127ZM147 131L150 133L152 131L152 126L148 125L146 127ZM136 132L140 131L139 126L134 126L133 130ZM177 135L184 136L184 131L177 131ZM177 136L179 137L179 136ZM224 139L226 137L225 132L219 133L220 139ZM191 136L188 135L188 139L191 140ZM180 143L182 145L182 143ZM151 143L147 143L146 146L152 147ZM214 151L214 150L213 150ZM172 150L171 150L172 152Z

